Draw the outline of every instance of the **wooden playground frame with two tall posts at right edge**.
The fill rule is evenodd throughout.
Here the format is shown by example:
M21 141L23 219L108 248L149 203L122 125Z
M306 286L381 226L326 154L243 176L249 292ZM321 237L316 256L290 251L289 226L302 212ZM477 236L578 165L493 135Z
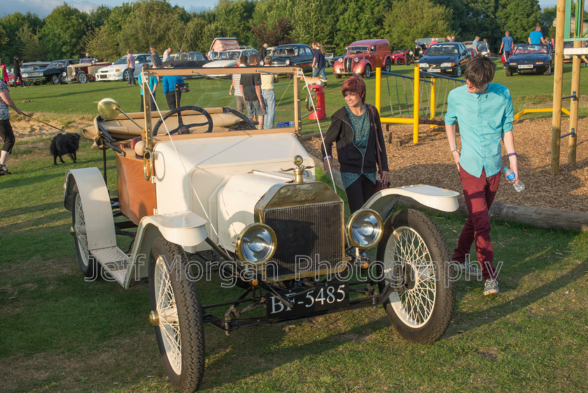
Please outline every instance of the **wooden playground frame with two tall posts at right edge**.
M552 119L552 174L559 173L559 152L561 138L568 139L568 163L575 163L577 146L577 108L580 97L580 57L588 55L588 48L582 47L587 41L587 32L582 32L584 21L584 0L578 0L575 10L575 35L570 37L572 0L558 0L555 34L555 69L553 82L553 119ZM573 41L573 48L563 48L564 41ZM563 55L573 55L571 95L562 97L563 92ZM561 135L561 101L570 102L570 132Z

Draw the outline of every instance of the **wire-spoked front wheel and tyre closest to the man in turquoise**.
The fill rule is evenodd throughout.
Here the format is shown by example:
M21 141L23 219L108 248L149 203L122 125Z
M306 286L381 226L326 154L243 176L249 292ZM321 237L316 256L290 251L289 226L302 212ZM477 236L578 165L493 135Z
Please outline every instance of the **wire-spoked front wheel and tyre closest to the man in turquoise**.
M400 336L415 343L440 338L453 315L455 281L450 280L453 266L437 224L418 210L400 210L384 225L377 259L387 272L380 291L392 281L404 287L403 293L392 292L384 303Z

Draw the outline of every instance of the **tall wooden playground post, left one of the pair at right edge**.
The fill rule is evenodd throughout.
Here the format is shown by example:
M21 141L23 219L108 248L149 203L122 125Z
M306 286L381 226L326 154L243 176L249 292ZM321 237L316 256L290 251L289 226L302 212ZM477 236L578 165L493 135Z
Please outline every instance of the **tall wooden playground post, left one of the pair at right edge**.
M561 137L561 96L563 87L563 25L566 18L566 0L557 0L555 20L555 67L553 76L552 118L552 174L559 174L559 139Z

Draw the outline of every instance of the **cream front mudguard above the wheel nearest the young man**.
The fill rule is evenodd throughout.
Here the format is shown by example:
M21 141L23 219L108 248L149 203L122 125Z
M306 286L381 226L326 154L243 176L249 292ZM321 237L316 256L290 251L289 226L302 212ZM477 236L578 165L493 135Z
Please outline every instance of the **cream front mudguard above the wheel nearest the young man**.
M416 186L385 188L372 195L372 198L365 202L366 209L374 209L379 214L384 214L387 207L398 196L405 196L412 198L421 205L430 207L431 209L441 210L442 212L455 212L458 208L456 191L446 190L434 186L427 186L426 184L418 184Z

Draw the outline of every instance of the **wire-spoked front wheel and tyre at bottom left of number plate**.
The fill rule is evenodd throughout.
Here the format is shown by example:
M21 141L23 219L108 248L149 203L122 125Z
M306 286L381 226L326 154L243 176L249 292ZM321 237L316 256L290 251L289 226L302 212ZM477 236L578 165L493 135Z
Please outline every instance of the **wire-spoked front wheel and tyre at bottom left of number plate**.
M192 393L204 375L204 323L196 283L186 275L187 266L186 253L178 244L155 239L149 263L151 323L169 382L180 392ZM162 286L168 290L160 291ZM175 308L170 307L173 304Z

